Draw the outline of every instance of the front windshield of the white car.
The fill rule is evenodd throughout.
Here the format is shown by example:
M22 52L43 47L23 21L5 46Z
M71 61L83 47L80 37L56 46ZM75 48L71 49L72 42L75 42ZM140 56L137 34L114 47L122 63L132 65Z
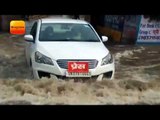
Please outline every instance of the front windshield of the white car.
M39 41L100 42L89 24L42 23Z

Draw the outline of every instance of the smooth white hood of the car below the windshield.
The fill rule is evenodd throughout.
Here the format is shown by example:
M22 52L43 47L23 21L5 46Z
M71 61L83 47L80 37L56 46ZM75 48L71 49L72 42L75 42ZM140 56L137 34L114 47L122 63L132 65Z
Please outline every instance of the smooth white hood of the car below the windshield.
M102 42L39 42L38 51L55 60L99 60L109 53Z

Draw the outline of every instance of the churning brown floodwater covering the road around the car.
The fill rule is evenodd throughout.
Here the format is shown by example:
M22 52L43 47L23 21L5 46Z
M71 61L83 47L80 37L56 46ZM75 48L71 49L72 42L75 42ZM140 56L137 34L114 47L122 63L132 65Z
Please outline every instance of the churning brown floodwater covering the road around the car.
M31 80L23 36L0 35L0 104L160 104L160 47L107 46L115 79Z

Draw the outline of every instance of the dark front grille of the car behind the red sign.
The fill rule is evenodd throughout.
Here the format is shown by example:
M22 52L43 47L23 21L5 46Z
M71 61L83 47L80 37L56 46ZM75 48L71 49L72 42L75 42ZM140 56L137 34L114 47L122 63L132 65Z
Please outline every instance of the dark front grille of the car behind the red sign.
M97 60L94 60L94 59L83 59L83 60L69 60L69 59L59 59L57 60L57 64L59 65L60 68L63 68L63 69L68 69L68 62L71 62L71 61L76 61L76 62L89 62L89 69L94 69L97 64L98 64L98 61Z

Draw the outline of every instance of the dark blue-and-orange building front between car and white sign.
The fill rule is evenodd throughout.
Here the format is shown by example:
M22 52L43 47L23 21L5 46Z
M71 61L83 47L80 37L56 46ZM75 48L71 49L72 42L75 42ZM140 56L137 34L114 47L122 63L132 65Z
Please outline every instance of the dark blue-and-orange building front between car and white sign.
M140 15L91 16L91 24L100 35L109 37L110 43L135 44Z

